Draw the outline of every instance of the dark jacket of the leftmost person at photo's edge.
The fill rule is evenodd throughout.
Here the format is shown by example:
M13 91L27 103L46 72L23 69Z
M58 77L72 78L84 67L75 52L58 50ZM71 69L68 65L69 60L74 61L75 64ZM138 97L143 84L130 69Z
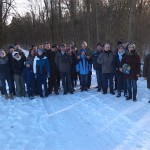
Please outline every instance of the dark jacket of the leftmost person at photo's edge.
M0 79L10 79L12 76L8 57L0 57Z

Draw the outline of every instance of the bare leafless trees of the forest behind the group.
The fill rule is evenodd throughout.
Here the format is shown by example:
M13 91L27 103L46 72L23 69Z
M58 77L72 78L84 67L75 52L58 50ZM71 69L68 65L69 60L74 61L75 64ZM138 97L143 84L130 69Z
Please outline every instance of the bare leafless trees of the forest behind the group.
M30 0L30 11L5 26L3 43L53 44L83 40L150 45L150 0Z

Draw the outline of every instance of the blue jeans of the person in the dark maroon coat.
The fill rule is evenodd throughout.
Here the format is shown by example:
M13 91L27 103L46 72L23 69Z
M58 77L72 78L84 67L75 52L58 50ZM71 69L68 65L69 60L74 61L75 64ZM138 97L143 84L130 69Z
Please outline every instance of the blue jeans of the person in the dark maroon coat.
M127 79L127 89L128 89L129 97L132 98L132 93L133 93L133 98L136 98L137 80Z

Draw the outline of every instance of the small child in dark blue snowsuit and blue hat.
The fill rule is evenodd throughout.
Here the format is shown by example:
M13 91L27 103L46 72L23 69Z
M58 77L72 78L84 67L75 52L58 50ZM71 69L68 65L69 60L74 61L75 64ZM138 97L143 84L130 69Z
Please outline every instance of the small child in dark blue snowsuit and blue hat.
M24 82L26 83L27 93L29 99L34 99L34 73L33 67L30 61L25 62L25 68L23 71Z

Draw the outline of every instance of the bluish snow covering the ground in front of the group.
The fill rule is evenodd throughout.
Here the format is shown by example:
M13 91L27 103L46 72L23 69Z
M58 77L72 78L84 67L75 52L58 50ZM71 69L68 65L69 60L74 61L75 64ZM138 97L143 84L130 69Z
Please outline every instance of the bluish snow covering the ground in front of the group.
M149 150L150 91L138 81L138 101L96 91L0 98L0 150Z

